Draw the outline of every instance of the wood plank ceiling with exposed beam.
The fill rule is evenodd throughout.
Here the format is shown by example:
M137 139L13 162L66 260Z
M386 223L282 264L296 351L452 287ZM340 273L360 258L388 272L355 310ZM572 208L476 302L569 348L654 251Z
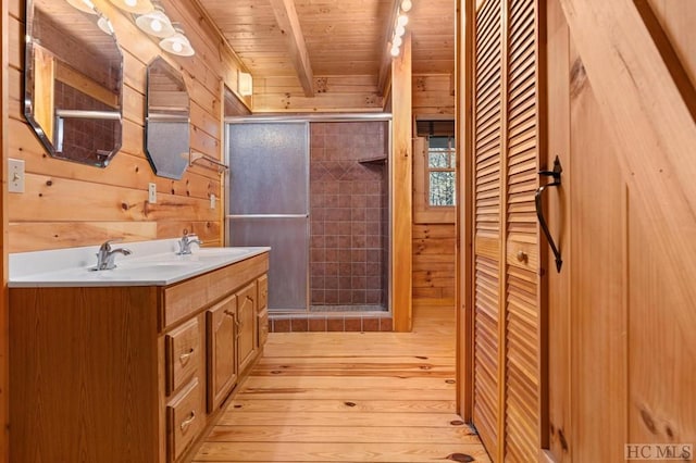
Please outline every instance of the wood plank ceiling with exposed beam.
M197 0L254 77L286 78L306 97L318 79L359 77L377 88L389 63L396 0ZM414 74L455 71L455 1L413 0L407 30ZM349 82L349 80L346 80ZM288 90L288 95L289 95Z

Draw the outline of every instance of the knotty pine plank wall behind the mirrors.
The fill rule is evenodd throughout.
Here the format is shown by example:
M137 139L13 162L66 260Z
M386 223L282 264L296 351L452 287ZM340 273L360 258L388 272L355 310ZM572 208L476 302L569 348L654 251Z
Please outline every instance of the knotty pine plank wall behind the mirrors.
M190 2L162 2L172 21L184 28L196 55L166 54L133 21L105 0L95 4L113 23L124 55L123 148L105 168L49 158L22 113L25 3L11 0L8 13L9 150L25 161L24 193L8 195L8 252L177 237L184 228L212 246L222 243L222 201L210 209L210 195L222 197L220 174L195 165L181 180L154 176L144 152L147 63L161 54L181 70L191 99L191 150L222 159L223 84L237 88L236 62L216 32ZM247 105L250 100L246 101ZM148 183L156 183L158 202L150 204Z

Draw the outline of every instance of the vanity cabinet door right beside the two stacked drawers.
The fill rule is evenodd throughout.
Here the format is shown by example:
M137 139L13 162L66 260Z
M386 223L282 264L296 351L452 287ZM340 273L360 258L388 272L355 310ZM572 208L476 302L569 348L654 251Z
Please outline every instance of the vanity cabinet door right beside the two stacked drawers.
M206 311L208 342L208 412L220 406L237 383L237 297L222 300Z

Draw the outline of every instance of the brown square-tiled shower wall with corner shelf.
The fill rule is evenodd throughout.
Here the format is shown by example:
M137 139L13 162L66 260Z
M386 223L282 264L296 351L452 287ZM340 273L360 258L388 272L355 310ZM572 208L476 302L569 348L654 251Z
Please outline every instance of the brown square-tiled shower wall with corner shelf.
M387 123L312 123L311 305L385 310L388 171L361 163L387 152Z

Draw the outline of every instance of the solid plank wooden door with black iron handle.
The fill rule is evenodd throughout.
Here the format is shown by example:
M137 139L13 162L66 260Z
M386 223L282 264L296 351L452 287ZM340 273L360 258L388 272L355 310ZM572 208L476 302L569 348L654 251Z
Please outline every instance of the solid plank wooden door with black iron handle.
M680 55L696 3L552 0L547 17L547 163L563 174L545 201L564 263L546 265L546 454L679 455L696 441L696 59Z

